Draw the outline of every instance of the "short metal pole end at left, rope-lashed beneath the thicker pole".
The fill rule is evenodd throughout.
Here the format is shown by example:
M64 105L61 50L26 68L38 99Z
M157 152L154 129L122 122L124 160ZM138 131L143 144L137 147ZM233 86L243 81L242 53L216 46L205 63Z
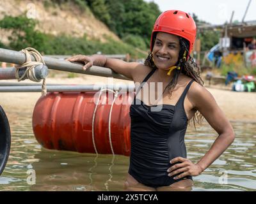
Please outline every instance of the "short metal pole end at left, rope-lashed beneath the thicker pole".
M15 77L16 68L1 68L0 69L0 80L4 79L17 79ZM26 68L19 69L19 77L25 73ZM45 65L38 65L35 67L35 77L40 80L46 78L48 75L48 68ZM27 77L24 77L25 80Z

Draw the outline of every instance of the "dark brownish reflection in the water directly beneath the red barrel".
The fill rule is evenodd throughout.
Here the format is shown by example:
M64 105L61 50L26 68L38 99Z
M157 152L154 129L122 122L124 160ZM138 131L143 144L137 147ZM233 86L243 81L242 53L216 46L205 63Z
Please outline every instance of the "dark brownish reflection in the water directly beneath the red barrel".
M125 167L129 157L116 156L125 161L112 170L112 155L79 154L45 150L35 154L39 162L33 163L36 184L31 191L111 191L124 186ZM120 169L122 167L124 170ZM113 174L115 178L113 180ZM110 187L109 187L110 186Z

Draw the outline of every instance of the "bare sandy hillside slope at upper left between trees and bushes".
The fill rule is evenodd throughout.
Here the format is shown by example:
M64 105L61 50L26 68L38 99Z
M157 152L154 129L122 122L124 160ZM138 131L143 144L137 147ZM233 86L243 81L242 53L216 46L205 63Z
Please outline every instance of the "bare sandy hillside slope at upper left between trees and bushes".
M54 36L67 34L82 37L86 34L88 39L96 38L104 42L106 36L109 36L113 40L120 41L118 36L97 20L89 9L82 12L78 6L70 3L59 6L58 4L46 5L41 1L0 1L0 19L4 15L15 17L22 13L38 20L39 24L36 29ZM0 30L0 39L3 43L8 43L8 34L10 33Z

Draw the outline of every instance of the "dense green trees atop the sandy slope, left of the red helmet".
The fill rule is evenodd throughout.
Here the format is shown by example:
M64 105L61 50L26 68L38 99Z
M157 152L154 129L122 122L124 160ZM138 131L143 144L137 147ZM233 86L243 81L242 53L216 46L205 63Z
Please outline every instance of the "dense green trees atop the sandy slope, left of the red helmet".
M44 0L44 2L48 1ZM90 8L93 15L108 25L109 29L121 39L127 40L126 36L132 35L133 37L129 36L128 41L132 41L132 45L144 50L145 45L149 48L152 27L161 13L156 3L147 3L143 0L53 0L51 2L60 5L76 4L81 10ZM141 40L144 41L142 46Z

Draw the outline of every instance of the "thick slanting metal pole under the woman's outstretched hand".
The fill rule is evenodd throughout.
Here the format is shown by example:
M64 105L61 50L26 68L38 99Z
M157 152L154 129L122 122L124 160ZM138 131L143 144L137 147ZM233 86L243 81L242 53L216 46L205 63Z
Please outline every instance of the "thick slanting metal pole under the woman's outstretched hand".
M31 56L32 60L35 61L35 58ZM92 66L91 68L83 70L83 65L77 62L68 62L61 59L54 59L51 57L43 57L45 64L49 69L56 69L60 71L69 71L74 73L81 73L86 75L95 75L100 77L113 77L124 80L131 80L131 78L124 77L109 68L102 68L99 66ZM8 62L13 64L23 64L26 60L25 54L22 52L17 52L13 50L6 50L0 48L0 61Z

